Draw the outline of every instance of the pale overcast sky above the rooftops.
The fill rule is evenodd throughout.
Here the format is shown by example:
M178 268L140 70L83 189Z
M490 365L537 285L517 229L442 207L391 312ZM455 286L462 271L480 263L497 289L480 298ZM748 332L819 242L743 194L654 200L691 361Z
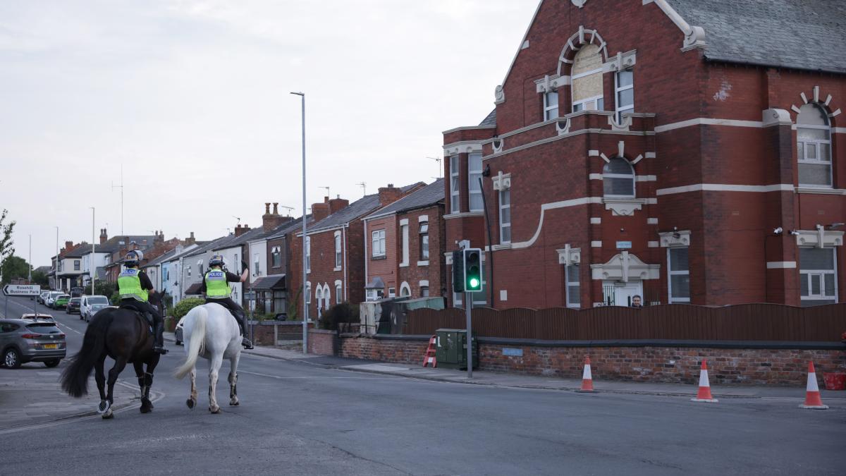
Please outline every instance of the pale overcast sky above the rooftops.
M96 230L261 224L437 177L442 130L493 108L537 0L0 0L0 208L48 264ZM97 233L99 235L99 232Z

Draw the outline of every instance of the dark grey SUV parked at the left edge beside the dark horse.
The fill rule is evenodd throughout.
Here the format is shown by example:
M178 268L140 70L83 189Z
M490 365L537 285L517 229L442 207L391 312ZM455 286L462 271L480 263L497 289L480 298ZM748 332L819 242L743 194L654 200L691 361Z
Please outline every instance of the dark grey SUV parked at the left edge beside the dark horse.
M42 362L56 367L67 356L64 333L56 323L36 319L0 319L0 365L19 368L20 364Z

